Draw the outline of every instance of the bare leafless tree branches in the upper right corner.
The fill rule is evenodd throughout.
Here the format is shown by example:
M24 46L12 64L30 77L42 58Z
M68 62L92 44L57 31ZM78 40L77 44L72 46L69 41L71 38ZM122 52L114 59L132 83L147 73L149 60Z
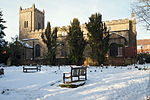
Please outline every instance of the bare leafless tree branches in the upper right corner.
M136 0L133 3L133 11L138 20L150 31L150 0Z

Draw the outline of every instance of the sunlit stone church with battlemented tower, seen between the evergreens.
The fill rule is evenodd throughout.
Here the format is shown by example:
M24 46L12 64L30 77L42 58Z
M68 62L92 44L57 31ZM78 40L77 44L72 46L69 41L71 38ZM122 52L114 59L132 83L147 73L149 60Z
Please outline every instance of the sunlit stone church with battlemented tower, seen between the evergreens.
M120 65L131 64L136 58L136 19L134 13L131 18L105 21L110 30L110 49L107 54L106 64ZM19 10L19 39L32 46L31 49L25 49L23 59L43 59L47 52L47 47L41 39L41 34L45 32L45 12L38 10L35 4L31 8ZM86 25L81 25L84 38L87 39ZM69 48L65 38L67 36L68 26L58 28L57 33L57 59L67 58ZM89 47L85 48L85 64L91 64ZM92 62L94 63L94 62Z

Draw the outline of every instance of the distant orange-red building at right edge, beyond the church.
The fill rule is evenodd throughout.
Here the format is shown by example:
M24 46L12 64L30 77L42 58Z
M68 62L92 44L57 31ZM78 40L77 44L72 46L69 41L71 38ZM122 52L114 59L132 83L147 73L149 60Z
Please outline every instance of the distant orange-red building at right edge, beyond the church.
M150 39L137 40L137 53L150 53Z

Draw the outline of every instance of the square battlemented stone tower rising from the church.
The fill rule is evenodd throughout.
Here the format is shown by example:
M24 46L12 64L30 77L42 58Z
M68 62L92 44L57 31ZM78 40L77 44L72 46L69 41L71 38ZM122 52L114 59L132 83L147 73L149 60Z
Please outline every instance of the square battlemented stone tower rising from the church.
M19 10L19 39L31 38L31 32L44 29L45 12L35 8L35 4L31 8Z

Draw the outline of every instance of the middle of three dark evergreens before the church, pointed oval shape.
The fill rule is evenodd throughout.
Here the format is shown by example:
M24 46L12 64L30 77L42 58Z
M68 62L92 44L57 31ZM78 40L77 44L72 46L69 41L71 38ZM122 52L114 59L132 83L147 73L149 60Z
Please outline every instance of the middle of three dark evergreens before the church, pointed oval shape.
M77 18L73 19L67 36L69 44L69 60L71 64L81 65L83 63L83 52L85 49L86 41L83 37L83 32L80 28L80 22Z

